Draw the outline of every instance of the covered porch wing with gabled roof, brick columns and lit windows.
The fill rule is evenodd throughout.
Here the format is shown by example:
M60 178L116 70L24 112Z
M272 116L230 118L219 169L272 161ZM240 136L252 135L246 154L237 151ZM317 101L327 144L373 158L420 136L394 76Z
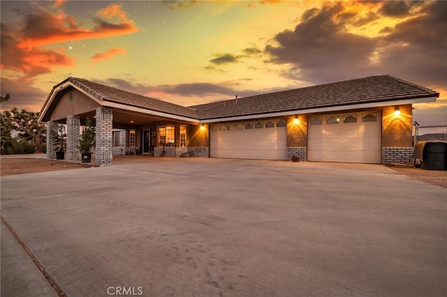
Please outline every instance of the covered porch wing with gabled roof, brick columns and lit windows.
M56 159L53 131L58 125L66 125L65 160L81 162L78 146L87 118L94 122L96 130L92 151L96 165L112 164L114 155L209 156L208 125L193 117L193 109L145 96L135 98L135 94L105 90L101 85L94 90L92 86L71 78L54 86L39 117L47 123L48 159Z

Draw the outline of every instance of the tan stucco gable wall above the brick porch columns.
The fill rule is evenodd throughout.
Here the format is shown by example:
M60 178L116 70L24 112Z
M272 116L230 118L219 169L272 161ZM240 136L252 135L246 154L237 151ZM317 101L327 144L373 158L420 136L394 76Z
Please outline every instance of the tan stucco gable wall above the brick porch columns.
M65 120L67 116L94 112L96 108L101 106L73 88L64 91L59 100L54 101L54 109L50 117L51 121L61 121Z

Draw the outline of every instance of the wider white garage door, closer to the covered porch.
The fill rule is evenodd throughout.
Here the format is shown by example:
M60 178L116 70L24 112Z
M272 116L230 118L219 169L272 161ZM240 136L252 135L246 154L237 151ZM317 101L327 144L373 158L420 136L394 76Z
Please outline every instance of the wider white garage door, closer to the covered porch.
M286 120L211 125L211 156L286 160Z

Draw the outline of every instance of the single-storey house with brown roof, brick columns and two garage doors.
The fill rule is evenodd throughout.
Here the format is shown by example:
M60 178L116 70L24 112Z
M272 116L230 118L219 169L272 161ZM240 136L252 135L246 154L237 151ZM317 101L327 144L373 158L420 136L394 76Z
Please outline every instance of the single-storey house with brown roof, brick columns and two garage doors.
M39 121L67 125L67 160L80 160L80 125L96 119L96 163L112 155L413 163L412 105L439 93L391 75L184 107L68 77L54 86Z

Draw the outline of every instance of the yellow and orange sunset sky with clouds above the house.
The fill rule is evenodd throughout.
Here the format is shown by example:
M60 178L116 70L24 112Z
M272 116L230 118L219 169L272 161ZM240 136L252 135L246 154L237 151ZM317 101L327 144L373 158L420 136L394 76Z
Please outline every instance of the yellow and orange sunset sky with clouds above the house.
M0 1L1 95L39 111L81 77L179 105L394 75L438 91L447 124L447 1Z

